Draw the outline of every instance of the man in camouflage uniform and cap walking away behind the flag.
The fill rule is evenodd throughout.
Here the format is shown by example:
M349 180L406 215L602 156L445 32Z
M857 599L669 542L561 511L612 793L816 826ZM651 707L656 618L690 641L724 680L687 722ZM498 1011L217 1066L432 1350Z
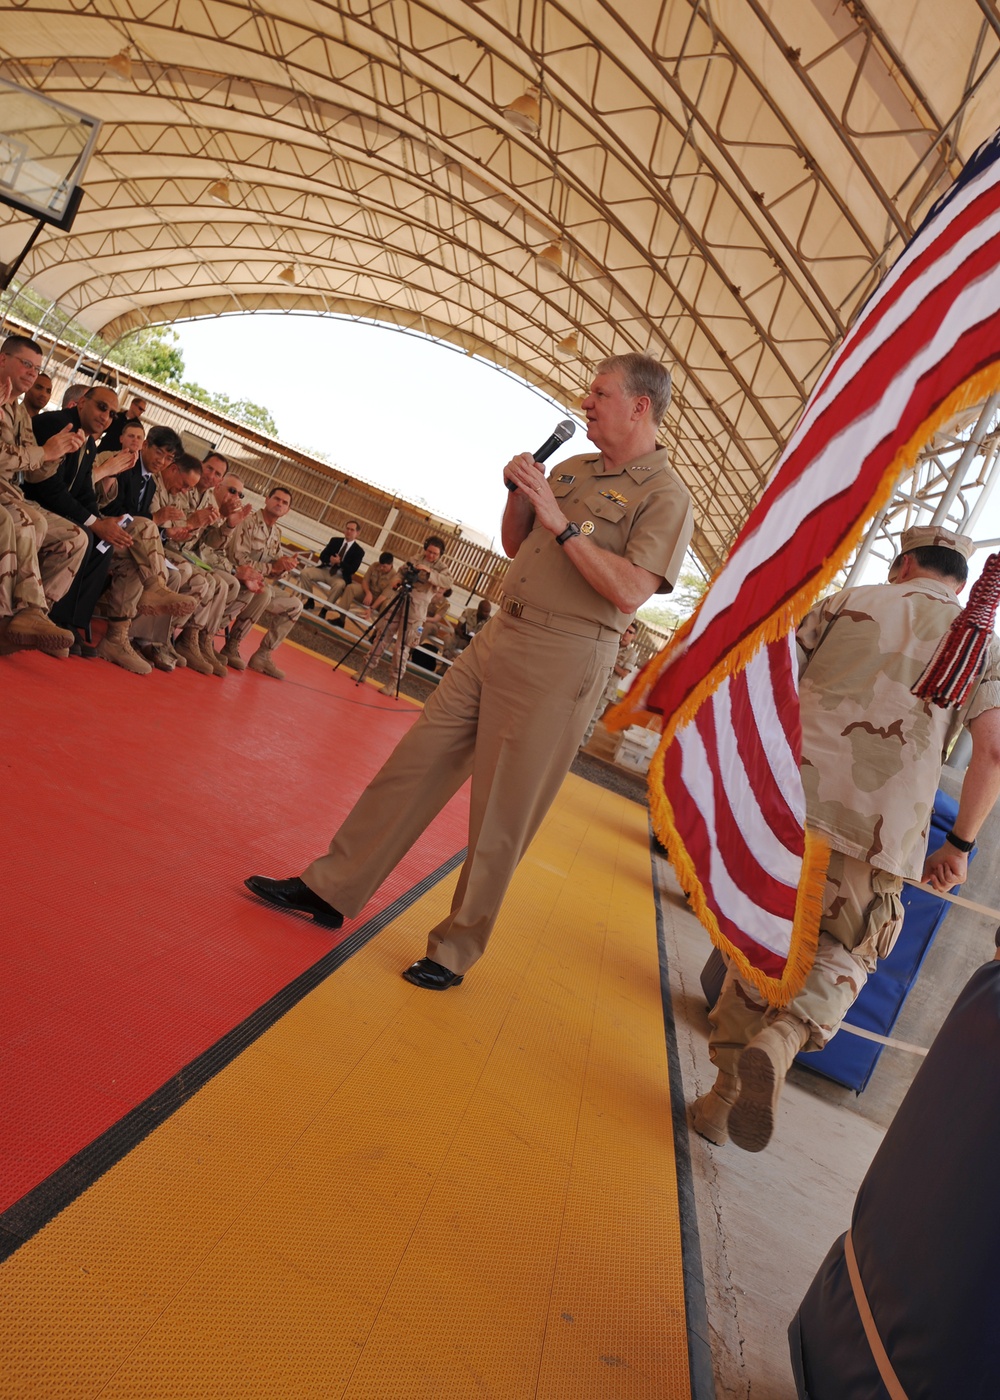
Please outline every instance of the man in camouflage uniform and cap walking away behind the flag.
M973 543L940 526L903 532L888 584L825 598L798 627L803 784L810 826L832 847L819 948L789 1005L768 1007L730 966L709 1019L718 1077L692 1109L711 1142L766 1147L784 1077L822 1050L902 924L902 876L961 883L1000 791L1000 648L959 711L912 694L959 615ZM972 735L958 816L924 860L934 794L962 724Z

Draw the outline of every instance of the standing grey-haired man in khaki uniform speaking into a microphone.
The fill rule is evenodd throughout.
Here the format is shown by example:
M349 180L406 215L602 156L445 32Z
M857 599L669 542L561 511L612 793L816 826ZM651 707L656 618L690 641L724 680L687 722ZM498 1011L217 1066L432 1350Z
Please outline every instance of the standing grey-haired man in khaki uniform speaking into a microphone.
M403 973L433 990L461 983L569 771L625 626L679 573L690 497L655 441L669 392L654 360L605 360L583 403L597 452L560 462L548 480L527 452L507 463L501 536L511 564L501 610L454 664L329 853L301 878L251 876L254 893L339 928L471 777L469 850L451 913Z

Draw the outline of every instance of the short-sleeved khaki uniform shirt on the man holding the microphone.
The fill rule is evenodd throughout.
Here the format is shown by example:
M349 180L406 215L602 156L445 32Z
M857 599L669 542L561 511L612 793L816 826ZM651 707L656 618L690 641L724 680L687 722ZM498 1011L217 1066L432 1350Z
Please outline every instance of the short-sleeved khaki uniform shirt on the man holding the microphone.
M688 487L671 470L662 448L616 472L604 472L602 462L597 454L553 466L549 486L563 515L595 545L662 578L657 592L669 592L693 532ZM510 561L503 591L518 602L602 623L618 633L632 620L591 588L542 525L531 529Z

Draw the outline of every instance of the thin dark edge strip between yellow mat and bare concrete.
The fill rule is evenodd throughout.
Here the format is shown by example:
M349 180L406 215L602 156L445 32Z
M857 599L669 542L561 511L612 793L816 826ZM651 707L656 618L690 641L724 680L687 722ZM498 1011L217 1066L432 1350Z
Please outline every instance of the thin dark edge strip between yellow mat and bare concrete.
M660 956L660 998L664 1008L664 1033L667 1036L667 1065L669 1075L671 1117L674 1126L674 1161L676 1165L678 1215L681 1218L681 1257L683 1264L683 1301L688 1312L688 1368L690 1372L692 1400L716 1400L716 1375L711 1365L711 1338L709 1336L709 1303L704 1295L704 1266L702 1263L702 1236L697 1229L697 1208L695 1204L695 1175L690 1165L690 1141L688 1137L688 1109L683 1098L681 1075L681 1054L676 1044L676 1023L669 990L669 965L667 962L667 939L664 935L662 906L660 903L660 881L657 878L658 843L650 827L650 865L653 874L653 903L657 911L657 952Z

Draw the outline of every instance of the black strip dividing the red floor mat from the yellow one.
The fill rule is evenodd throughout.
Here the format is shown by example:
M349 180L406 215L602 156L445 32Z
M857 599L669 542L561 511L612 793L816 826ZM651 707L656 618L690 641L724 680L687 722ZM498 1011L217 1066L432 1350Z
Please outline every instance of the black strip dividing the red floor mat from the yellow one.
M465 850L451 855L436 871L424 875L398 899L394 899L381 913L375 914L342 944L325 953L300 973L287 987L282 987L263 1005L252 1011L231 1030L203 1050L190 1064L167 1079L158 1089L130 1109L118 1123L112 1123L99 1137L88 1142L74 1156L39 1182L27 1196L0 1214L0 1263L14 1250L27 1243L42 1226L64 1211L88 1186L99 1180L116 1162L120 1162L148 1134L188 1102L209 1079L231 1064L246 1046L258 1040L276 1021L308 995L331 973L342 967L375 934L381 934L394 918L416 903L422 895L450 875L465 860Z

